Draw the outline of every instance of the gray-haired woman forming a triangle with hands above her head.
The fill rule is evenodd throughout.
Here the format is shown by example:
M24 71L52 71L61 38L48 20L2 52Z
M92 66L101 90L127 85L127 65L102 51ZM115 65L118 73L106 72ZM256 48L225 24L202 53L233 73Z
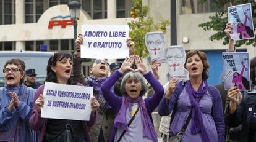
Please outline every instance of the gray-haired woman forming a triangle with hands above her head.
M135 62L137 69L131 66ZM127 73L127 71L130 71ZM111 87L126 73L121 82L119 97L111 92ZM143 74L143 75L142 75ZM155 90L153 97L143 100L147 92L144 78ZM139 56L126 58L118 71L115 71L102 85L101 90L105 100L114 109L116 117L111 132L110 141L158 141L151 113L158 106L164 94L163 86L153 77L151 71Z

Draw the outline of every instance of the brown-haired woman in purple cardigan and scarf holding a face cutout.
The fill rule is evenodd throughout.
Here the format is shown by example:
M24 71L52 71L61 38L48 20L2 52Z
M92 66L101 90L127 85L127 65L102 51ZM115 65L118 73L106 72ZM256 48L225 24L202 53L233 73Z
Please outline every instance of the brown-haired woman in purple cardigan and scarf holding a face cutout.
M190 50L185 68L189 81L169 82L158 106L160 116L172 111L169 139L181 141L224 141L224 119L220 92L207 84L209 63L204 52Z

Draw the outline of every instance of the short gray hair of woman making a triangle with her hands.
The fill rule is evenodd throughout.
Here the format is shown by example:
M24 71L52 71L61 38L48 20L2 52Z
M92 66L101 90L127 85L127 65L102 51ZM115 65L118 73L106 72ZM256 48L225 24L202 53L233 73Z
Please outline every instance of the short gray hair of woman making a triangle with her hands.
M142 76L142 74L140 72L128 72L126 73L126 75L124 75L124 77L122 78L122 82L121 82L121 93L124 95L127 95L126 93L126 81L129 79L137 79L138 81L140 81L140 83L142 84L142 92L140 92L140 96L143 96L146 92L147 92L147 84L144 81L144 77Z

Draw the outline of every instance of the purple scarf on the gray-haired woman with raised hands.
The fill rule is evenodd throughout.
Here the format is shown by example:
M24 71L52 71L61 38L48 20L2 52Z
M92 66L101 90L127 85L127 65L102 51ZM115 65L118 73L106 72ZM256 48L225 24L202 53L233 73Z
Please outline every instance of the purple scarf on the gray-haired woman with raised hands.
M130 103L139 103L138 107L140 108L140 114L143 124L143 137L147 137L150 140L157 141L155 129L153 127L153 124L151 123L150 117L148 116L145 101L141 96L136 99L132 99L127 96L122 98L122 106L117 113L116 118L114 119L114 127L124 128L124 130L128 130L128 125L126 122L126 110L129 109L128 101Z

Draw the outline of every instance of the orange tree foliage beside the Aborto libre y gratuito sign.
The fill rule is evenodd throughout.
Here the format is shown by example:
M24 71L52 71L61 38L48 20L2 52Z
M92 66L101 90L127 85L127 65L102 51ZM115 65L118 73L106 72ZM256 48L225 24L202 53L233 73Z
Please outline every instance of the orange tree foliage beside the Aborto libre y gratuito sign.
M135 11L137 18L129 25L129 36L135 43L135 55L145 58L148 56L148 50L145 45L145 35L150 31L163 31L166 33L166 26L170 24L170 20L161 19L160 22L154 23L152 17L148 17L148 6L142 6L142 0L134 0L134 6L131 11Z

